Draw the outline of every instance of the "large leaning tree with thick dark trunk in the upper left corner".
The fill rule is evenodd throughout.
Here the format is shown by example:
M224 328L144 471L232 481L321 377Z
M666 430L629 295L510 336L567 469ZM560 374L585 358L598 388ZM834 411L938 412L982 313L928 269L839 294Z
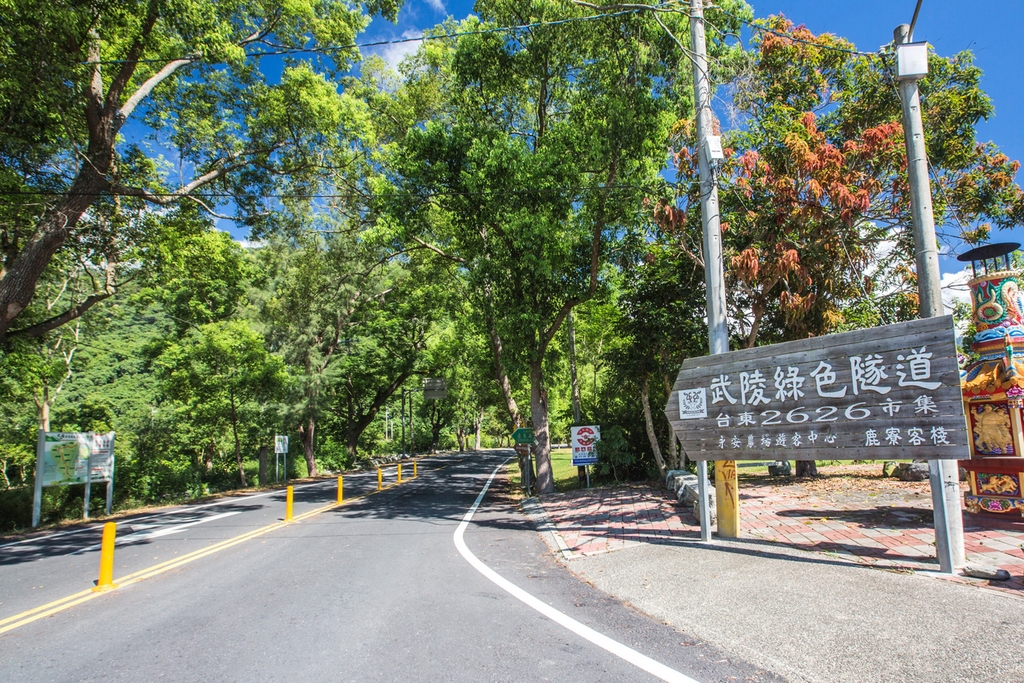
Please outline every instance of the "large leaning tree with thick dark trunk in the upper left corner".
M212 212L229 198L259 233L302 215L310 190L358 183L367 110L335 84L357 51L286 57L273 79L259 56L325 55L353 42L364 7L393 18L395 0L2 6L0 341L42 335L110 296L18 319L60 254L88 245L94 260L120 262L137 237L118 218L125 207L187 198ZM145 151L144 133L176 169ZM288 199L270 207L274 193Z

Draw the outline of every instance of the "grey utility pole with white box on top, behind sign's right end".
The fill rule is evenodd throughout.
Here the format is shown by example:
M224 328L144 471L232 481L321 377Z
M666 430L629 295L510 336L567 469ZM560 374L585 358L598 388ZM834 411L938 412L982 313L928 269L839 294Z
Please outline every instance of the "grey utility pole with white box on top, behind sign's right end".
M919 5L920 7L920 5ZM916 18L916 13L914 14ZM893 32L897 51L900 45L912 41L910 27L901 24ZM907 48L904 48L907 49ZM913 244L916 251L918 291L921 317L935 317L945 311L942 306L939 254L935 239L935 217L932 212L932 187L928 179L928 154L925 150L925 129L921 117L921 94L918 81L928 73L928 51L923 47L923 67L897 68L900 101L903 106L903 139L906 142L907 175L910 181L910 210L913 221ZM905 70L906 73L900 73ZM961 511L959 470L954 460L929 462L932 485L932 509L935 520L935 548L939 567L952 573L964 566L964 514Z

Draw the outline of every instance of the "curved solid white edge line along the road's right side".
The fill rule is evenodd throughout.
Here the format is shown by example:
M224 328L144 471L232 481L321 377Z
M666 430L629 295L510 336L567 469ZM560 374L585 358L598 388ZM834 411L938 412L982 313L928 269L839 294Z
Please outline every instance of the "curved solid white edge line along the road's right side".
M511 460L511 458L509 460ZM509 460L506 460L505 463L508 463ZM516 586L515 584L508 581L507 579L499 574L497 571L485 565L483 562L477 559L476 555L474 555L472 551L469 550L469 548L466 546L465 540L463 539L463 536L466 532L466 527L469 526L469 522L472 521L473 515L476 513L476 509L480 507L480 503L483 501L483 497L486 495L487 489L490 488L490 482L494 481L495 475L498 474L498 470L504 467L505 463L499 465L495 469L495 471L490 473L490 477L487 479L487 482L483 484L483 489L480 492L480 495L476 497L476 502L473 503L473 507L471 507L469 509L469 512L466 513L466 516L462 518L462 523L459 524L459 528L456 529L455 547L459 549L459 554L462 555L464 558L466 558L466 561L469 562L474 569L476 569L484 577L489 579L492 582L497 584L502 590L509 593L512 597L532 607L537 611L541 612L542 614L550 618L555 624L565 627L566 629L577 634L578 636L589 640L598 647L607 650L608 652L614 654L621 659L625 659L631 665L643 669L648 674L655 676L662 679L663 681L668 681L669 683L698 683L696 680L690 678L689 676L686 676L685 674L680 674L675 669L670 669L669 667L666 667L664 664L651 659L646 654L641 654L632 647L623 645L618 641L612 640L611 638L608 638L607 636L600 634L597 631L594 631L594 629L591 629L589 626L581 624L571 616L558 611L557 609L547 604L546 602L543 602L538 598L535 598L532 595L522 590L521 588L519 588L518 586Z

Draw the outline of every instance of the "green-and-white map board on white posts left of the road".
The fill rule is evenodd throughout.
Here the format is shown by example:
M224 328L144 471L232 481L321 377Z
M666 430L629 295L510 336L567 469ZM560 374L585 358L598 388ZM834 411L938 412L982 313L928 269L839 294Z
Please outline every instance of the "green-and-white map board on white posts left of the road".
M106 482L106 514L114 503L114 432L39 431L36 445L36 490L32 501L32 525L42 515L43 486L85 484L84 515L89 518L89 501L94 481Z

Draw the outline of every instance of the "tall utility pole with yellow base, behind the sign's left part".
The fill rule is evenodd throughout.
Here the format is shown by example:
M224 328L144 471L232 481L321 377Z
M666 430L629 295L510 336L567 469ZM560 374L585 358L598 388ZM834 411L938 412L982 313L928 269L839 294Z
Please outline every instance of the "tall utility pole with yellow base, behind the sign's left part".
M690 47L693 51L693 91L697 115L697 161L700 170L700 222L703 225L705 283L708 294L708 341L712 355L729 351L729 328L725 314L725 273L722 264L722 226L718 209L718 185L710 158L714 128L711 111L711 78L708 73L708 45L703 30L703 2L690 0ZM717 141L717 138L716 138ZM708 509L708 463L697 462L700 496L700 540L711 541ZM739 538L739 481L736 461L715 465L718 501L718 535Z

